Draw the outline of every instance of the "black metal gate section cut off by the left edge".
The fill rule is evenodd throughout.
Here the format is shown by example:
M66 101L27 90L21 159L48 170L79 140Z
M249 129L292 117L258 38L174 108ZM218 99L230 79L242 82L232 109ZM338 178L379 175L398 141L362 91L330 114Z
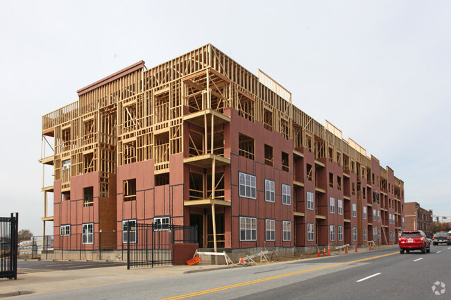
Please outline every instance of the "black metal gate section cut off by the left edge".
M0 217L0 278L17 279L18 220L19 213Z

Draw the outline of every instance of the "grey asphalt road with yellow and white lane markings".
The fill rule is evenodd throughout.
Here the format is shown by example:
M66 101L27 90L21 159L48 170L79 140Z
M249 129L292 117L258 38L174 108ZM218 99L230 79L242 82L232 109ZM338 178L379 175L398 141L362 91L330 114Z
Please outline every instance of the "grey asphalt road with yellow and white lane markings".
M239 267L27 299L451 299L451 247ZM434 283L435 285L433 289ZM438 294L436 294L436 292Z

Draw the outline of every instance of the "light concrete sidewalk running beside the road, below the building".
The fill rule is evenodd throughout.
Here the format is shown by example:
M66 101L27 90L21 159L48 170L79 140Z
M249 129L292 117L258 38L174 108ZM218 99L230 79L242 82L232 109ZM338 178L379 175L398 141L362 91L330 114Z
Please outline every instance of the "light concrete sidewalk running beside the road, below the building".
M387 247L398 247L398 245L382 246L381 249ZM358 252L368 252L368 248L359 248ZM334 251L332 254L337 254L337 252ZM349 249L349 254L345 255L350 254L355 254L355 249ZM281 262L287 263L287 260ZM80 288L92 288L101 285L113 285L148 279L161 279L191 272L205 272L230 267L237 266L176 265L153 268L138 267L127 270L126 266L121 265L118 267L98 267L80 270L38 271L17 274L17 280L0 279L0 298L14 297L21 294L46 294L50 292L78 290Z

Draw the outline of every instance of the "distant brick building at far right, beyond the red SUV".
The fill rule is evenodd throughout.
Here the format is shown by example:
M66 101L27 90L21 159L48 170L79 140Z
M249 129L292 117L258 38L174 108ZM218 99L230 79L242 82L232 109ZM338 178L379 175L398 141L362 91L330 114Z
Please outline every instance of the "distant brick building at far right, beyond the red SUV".
M432 238L432 211L423 209L418 202L405 202L406 230L423 230Z

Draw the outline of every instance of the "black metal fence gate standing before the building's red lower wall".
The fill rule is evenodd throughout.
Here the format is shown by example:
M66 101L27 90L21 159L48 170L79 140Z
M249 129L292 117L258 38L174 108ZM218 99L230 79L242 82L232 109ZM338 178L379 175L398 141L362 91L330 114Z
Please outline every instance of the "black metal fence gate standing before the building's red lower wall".
M172 265L175 242L197 242L197 227L194 226L129 221L122 234L127 242L127 269Z

